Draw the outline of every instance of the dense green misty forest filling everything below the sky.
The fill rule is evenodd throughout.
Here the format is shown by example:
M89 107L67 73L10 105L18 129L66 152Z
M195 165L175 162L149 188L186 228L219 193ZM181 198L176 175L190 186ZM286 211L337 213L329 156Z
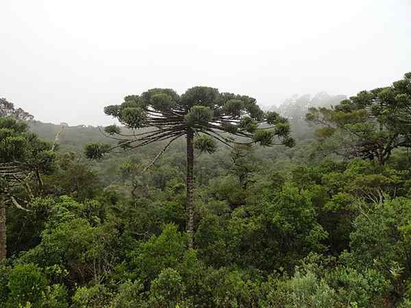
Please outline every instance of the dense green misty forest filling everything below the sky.
M153 89L104 129L1 99L0 307L411 307L411 73L381 86Z

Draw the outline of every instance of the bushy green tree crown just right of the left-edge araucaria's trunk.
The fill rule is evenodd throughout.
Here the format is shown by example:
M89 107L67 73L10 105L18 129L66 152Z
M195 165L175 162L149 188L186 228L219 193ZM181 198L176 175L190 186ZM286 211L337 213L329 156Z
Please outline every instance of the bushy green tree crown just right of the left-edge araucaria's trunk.
M116 265L113 253L121 239L115 224L101 223L95 201L82 204L65 197L58 203L48 202L49 222L41 242L23 259L42 266L62 265L69 274L65 279L78 279L82 284L102 279Z

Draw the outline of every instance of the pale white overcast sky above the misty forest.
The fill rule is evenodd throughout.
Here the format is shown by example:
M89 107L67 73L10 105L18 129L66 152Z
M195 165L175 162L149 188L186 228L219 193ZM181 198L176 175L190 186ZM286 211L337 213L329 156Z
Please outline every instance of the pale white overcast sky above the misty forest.
M43 122L107 125L149 88L262 106L411 71L411 0L0 0L0 97Z

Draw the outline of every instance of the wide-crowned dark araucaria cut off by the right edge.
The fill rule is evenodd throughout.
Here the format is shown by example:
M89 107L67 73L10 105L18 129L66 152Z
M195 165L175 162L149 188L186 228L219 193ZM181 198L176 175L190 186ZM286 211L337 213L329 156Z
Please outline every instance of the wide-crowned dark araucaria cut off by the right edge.
M393 149L411 147L411 73L335 107L310 108L306 119L322 126L317 134L325 143L340 137L336 153L385 164Z

